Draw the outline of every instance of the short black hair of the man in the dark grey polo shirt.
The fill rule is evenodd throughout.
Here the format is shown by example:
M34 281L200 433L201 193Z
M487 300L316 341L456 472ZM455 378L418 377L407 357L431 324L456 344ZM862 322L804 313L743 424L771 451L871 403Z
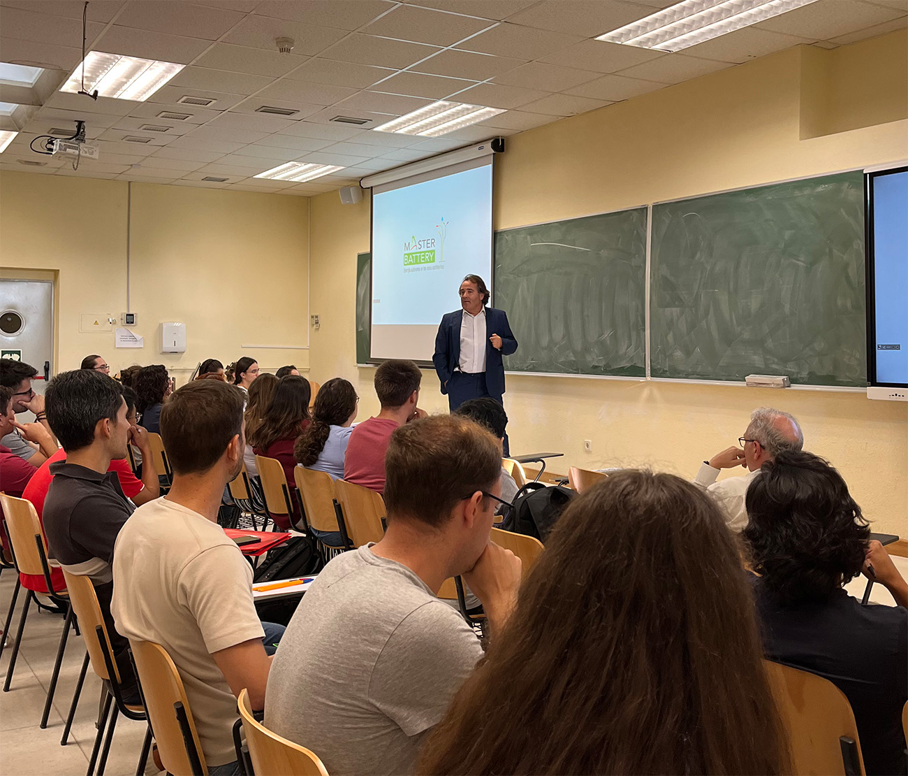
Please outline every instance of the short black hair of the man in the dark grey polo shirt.
M94 442L94 427L107 418L116 423L123 406L123 387L106 374L89 369L61 372L48 383L44 412L51 431L66 453Z

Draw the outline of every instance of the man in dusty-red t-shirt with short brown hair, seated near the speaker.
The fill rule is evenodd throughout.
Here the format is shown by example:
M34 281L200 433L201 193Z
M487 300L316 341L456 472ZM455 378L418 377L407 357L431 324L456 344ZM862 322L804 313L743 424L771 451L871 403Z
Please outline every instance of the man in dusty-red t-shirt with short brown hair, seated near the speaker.
M421 381L422 373L411 361L390 359L375 370L373 383L381 410L368 421L358 423L350 433L343 465L343 478L348 483L384 491L385 451L391 433L404 423L426 416L416 406Z

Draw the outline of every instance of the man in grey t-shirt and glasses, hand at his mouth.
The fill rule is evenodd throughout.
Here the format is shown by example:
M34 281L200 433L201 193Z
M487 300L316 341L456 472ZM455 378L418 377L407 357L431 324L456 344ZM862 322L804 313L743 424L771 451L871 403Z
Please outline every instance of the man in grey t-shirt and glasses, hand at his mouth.
M520 580L518 558L489 543L486 493L498 493L500 459L496 440L462 418L399 428L388 447L388 532L329 562L294 613L265 724L317 752L331 774L413 771L425 732L482 657L469 625L436 598L442 582L464 574L498 636Z

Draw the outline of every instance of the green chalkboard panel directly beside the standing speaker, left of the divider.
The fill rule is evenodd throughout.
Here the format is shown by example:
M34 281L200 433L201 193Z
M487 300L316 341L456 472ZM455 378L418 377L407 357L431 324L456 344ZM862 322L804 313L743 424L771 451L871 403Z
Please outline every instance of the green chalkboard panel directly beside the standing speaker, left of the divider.
M505 369L646 375L646 208L495 234Z

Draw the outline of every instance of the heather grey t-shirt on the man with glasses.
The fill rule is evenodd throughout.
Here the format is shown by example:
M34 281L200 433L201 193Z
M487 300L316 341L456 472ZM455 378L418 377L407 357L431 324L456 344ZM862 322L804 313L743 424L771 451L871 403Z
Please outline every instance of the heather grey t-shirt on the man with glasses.
M271 665L265 724L332 776L410 773L482 656L458 612L367 544L319 574Z

